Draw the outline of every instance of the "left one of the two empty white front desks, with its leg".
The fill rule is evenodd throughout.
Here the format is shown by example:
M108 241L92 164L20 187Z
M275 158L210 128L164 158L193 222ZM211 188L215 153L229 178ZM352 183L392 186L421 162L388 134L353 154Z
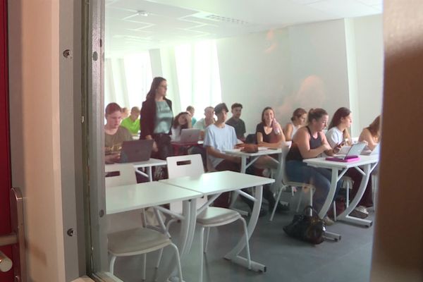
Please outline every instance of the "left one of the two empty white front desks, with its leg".
M189 250L188 239L192 238L190 233L195 230L195 207L198 197L202 197L202 193L157 181L109 187L106 189L106 214L183 201L183 220L178 240L178 249L182 256ZM175 265L164 267L159 281L171 276L173 269Z

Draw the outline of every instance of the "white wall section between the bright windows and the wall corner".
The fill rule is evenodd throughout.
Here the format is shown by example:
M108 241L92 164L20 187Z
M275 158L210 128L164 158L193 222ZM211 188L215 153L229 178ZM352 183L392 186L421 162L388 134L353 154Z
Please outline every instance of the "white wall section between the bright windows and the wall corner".
M288 31L219 39L216 45L222 102L229 109L243 104L247 133L255 133L264 107L278 108L291 91Z

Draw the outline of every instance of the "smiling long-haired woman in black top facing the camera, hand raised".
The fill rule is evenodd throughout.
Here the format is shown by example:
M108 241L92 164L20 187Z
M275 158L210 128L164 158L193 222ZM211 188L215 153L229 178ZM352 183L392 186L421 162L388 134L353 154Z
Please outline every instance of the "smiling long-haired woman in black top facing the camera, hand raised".
M280 148L282 146L282 142L285 142L281 125L279 125L276 121L274 109L270 106L266 106L266 108L262 111L262 122L257 124L256 136L257 145L263 147ZM272 157L261 156L257 159L257 161L255 161L254 166L257 168L269 168L276 170L278 168L278 164ZM276 200L270 190L270 185L264 185L263 197L267 200L267 202L269 202L269 212L273 211ZM289 207L283 206L280 203L278 203L278 207L276 207L276 212L285 212L288 210Z

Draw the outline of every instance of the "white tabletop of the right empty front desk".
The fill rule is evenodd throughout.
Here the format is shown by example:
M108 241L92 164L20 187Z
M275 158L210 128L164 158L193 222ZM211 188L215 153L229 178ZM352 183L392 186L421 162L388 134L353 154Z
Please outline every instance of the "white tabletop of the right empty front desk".
M212 195L257 185L270 184L274 183L275 180L272 178L251 176L250 174L234 171L216 171L203 173L199 176L184 176L164 179L159 180L159 182L201 192L203 195Z

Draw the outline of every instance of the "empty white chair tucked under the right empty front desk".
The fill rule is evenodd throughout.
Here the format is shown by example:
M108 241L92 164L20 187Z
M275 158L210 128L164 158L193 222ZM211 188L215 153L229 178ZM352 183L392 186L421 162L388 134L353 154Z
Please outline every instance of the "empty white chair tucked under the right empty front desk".
M185 156L168 157L166 158L168 164L169 178L176 178L180 176L197 176L204 173L202 159L200 154L191 154ZM240 220L243 222L243 228L246 240L246 252L248 268L251 268L250 259L250 245L248 243L247 223L245 219L232 209L224 209L221 207L208 207L209 204L215 200L216 197L207 200L200 209L197 209L197 224L201 226L200 229L200 281L203 276L203 252L207 252L207 243L209 240L209 228L214 226L223 226L233 221ZM207 228L206 243L204 245L204 229Z

